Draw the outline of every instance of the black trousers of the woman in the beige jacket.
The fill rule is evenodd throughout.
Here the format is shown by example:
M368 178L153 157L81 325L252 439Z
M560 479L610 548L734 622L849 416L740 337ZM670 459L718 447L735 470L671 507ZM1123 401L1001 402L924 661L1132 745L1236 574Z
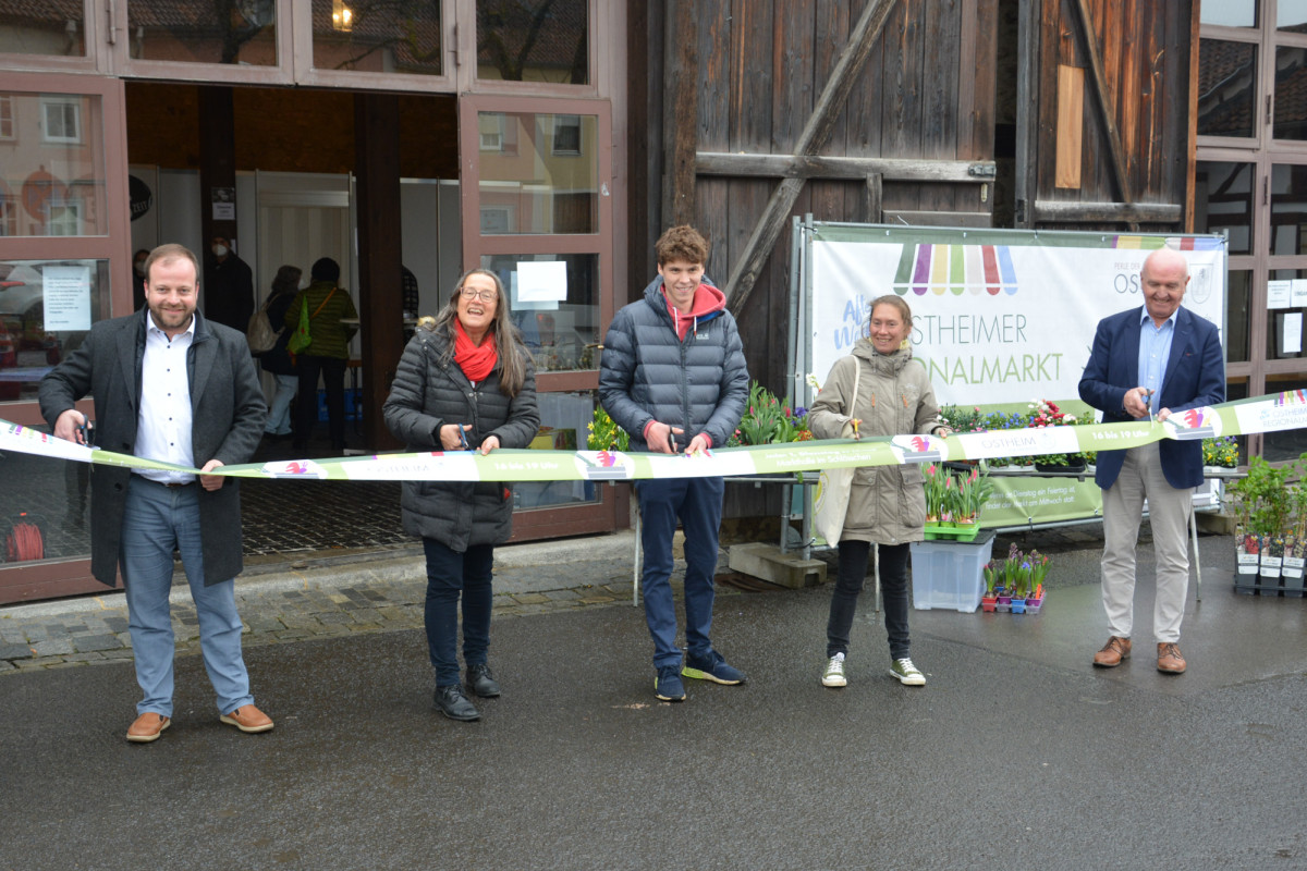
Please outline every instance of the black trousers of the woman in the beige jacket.
M911 545L881 545L881 594L885 599L885 632L890 639L890 658L911 656L907 635L907 558ZM835 592L830 597L830 620L826 623L826 657L848 654L848 633L853 628L857 594L863 592L870 542L839 543L839 568Z

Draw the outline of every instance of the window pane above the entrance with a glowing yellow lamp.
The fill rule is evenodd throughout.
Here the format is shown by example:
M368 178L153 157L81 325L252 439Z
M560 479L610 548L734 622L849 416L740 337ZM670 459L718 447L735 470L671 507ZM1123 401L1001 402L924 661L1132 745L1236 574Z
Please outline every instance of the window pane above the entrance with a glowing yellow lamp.
M440 0L314 0L314 67L439 76Z

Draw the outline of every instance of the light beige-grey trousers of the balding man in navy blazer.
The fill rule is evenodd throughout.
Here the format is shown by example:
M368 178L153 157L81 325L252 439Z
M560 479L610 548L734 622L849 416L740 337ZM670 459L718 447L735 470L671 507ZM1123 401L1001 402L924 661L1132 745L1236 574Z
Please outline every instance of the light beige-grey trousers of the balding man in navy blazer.
M1103 609L1112 635L1131 637L1134 624L1134 550L1148 499L1157 558L1153 635L1180 640L1189 590L1189 515L1193 488L1166 482L1157 444L1129 448L1116 482L1103 491Z

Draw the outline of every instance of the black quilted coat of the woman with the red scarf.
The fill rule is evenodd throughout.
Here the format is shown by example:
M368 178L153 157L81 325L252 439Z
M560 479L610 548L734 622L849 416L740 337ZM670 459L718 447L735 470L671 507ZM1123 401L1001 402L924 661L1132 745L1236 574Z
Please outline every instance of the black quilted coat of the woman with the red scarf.
M468 444L499 436L502 448L525 448L540 430L536 371L527 356L527 377L511 400L499 392L499 366L476 387L446 356L452 338L418 329L409 340L382 414L386 426L410 452L443 451L446 423L471 423ZM455 552L472 545L499 545L512 534L511 484L498 482L405 481L400 496L404 531L434 538Z

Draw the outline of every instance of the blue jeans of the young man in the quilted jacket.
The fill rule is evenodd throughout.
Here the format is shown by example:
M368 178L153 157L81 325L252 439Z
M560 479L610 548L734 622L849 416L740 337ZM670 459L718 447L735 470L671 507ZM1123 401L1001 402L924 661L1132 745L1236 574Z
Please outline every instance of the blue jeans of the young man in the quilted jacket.
M637 486L640 500L640 545L644 548L644 620L654 636L654 667L681 662L676 646L676 602L672 598L672 537L676 521L685 531L685 640L690 656L712 649L712 575L718 568L721 526L721 478L654 478Z

